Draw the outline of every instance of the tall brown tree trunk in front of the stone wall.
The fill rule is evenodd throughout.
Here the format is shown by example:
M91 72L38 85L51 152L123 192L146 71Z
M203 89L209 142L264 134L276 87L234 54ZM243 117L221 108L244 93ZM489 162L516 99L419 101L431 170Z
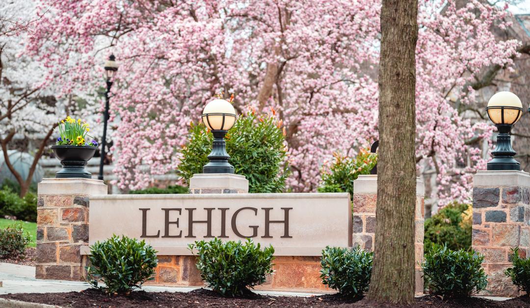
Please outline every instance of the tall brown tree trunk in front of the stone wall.
M417 15L417 0L383 0L377 223L367 301L414 301Z

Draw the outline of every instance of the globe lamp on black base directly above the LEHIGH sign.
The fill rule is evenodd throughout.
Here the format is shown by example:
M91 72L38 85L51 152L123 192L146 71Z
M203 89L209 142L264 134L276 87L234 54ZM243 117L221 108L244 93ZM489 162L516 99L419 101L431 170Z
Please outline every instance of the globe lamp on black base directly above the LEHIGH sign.
M214 134L214 145L208 155L208 164L202 167L202 173L234 173L230 165L230 156L226 152L225 135L235 122L235 109L224 99L214 99L202 112L202 122Z

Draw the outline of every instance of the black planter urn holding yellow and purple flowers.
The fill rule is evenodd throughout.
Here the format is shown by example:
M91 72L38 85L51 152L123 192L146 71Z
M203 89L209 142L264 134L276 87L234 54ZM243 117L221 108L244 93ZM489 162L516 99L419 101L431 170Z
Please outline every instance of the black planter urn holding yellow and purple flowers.
M63 169L55 174L56 178L92 178L85 166L94 156L96 147L52 146L51 149L63 165Z

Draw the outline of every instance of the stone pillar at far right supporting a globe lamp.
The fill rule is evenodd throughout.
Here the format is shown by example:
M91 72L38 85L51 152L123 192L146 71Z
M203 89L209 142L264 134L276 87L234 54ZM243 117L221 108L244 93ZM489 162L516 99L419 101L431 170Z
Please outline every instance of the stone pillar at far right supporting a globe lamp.
M484 255L490 296L518 296L504 270L510 248L530 252L530 175L524 171L478 171L473 177L472 248Z

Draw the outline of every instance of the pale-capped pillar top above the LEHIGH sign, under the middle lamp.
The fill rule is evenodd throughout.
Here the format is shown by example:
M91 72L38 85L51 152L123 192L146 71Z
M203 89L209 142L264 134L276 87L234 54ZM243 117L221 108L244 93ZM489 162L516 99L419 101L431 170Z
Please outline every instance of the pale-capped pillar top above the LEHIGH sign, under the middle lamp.
M227 173L194 174L190 178L191 194L246 194L249 180L242 175Z

